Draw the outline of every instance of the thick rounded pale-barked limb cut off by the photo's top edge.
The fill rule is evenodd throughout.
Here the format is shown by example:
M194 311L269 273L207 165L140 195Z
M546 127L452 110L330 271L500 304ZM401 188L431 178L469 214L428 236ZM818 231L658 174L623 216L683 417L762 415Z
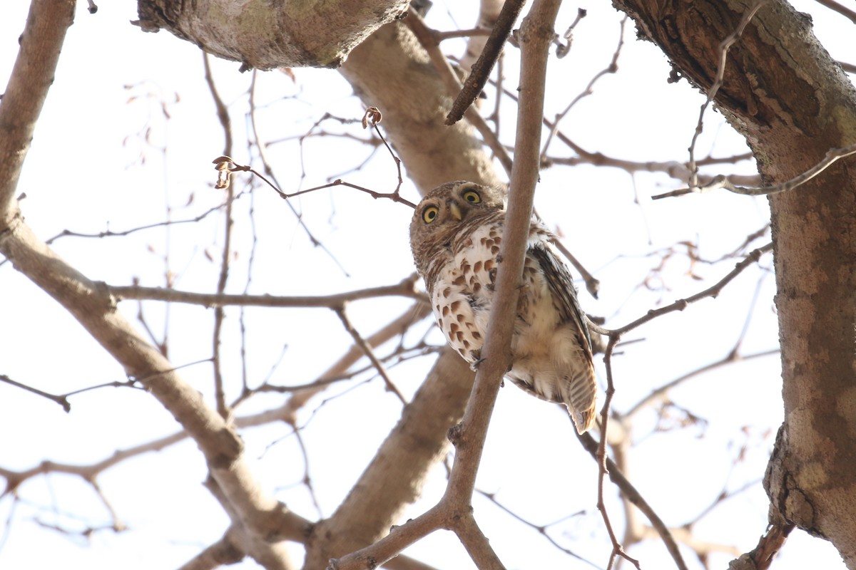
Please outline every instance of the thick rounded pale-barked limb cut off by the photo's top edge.
M407 0L138 0L134 23L145 32L169 30L242 69L336 68L406 11Z

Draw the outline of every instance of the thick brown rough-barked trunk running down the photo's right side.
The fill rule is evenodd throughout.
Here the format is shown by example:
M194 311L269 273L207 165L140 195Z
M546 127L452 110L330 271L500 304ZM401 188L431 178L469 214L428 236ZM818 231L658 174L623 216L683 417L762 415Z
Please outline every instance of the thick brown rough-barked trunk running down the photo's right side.
M704 91L720 42L752 9L739 0L616 0L677 73ZM768 183L856 142L856 91L811 19L764 4L728 51L716 103L746 136ZM856 567L856 164L841 161L770 197L785 421L766 486L773 518L827 538ZM724 221L724 220L723 220ZM766 405L759 403L758 405Z

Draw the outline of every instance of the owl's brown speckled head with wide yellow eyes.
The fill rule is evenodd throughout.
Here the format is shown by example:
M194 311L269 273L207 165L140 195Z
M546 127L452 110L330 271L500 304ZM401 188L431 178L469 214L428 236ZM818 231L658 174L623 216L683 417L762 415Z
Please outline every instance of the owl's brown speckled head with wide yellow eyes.
M502 191L466 180L447 182L425 194L410 222L410 247L419 271L425 273L423 264L431 254L449 246L460 232L504 209Z

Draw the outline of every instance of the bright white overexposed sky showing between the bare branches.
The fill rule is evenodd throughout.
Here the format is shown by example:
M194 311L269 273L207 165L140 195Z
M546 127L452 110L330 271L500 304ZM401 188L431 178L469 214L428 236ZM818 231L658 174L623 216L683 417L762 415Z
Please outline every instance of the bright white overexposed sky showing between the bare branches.
M574 34L571 54L550 68L548 116L555 115L585 88L593 73L605 67L615 50L621 20L603 3L580 4L589 11ZM578 4L567 3L559 27L573 21ZM815 10L805 3L801 9ZM20 191L21 207L35 231L50 238L63 229L75 232L122 230L164 219L166 205L175 219L191 218L220 203L211 187L211 160L222 154L223 134L203 81L202 58L192 44L167 32L144 34L128 21L134 3L101 3L97 15L78 6L68 32L56 81L39 122L33 150L27 158ZM17 53L17 37L26 19L27 3L4 6L0 20L0 77L9 76ZM450 27L445 6L437 3L429 23ZM823 16L823 17L821 17ZM455 21L469 26L473 12L455 7ZM847 21L834 15L815 17L818 35L833 56L852 53L846 38ZM635 41L633 25L625 32L620 72L602 79L595 95L568 116L563 130L588 150L630 160L685 160L702 98L687 85L666 82L669 66L651 44ZM460 54L461 45L443 49ZM850 57L853 60L853 57ZM851 61L852 62L852 61ZM250 74L237 73L234 62L214 62L217 87L230 104L235 126L233 156L249 161L244 129L246 91ZM362 106L348 84L334 71L299 69L297 84L282 73L259 75L261 137L267 141L303 134L315 120L332 115L359 118ZM515 85L509 63L507 85ZM176 94L178 97L176 97ZM166 121L159 101L165 101ZM490 102L492 104L492 100ZM510 104L505 109L512 110ZM502 137L513 140L514 118L503 118ZM151 128L164 154L142 144L137 133ZM330 124L330 130L342 129ZM560 144L556 156L572 156ZM699 143L700 154L727 156L746 151L741 138L710 113ZM146 162L137 160L140 150ZM300 185L300 147L295 141L270 147L276 174L287 190ZM303 187L339 177L367 156L368 150L347 139L311 138L303 147L306 179ZM718 171L716 171L718 172ZM725 173L753 173L752 164L728 167ZM388 190L395 185L389 156L379 152L368 166L343 176L354 184ZM244 179L246 181L246 179ZM634 203L633 193L640 203ZM242 182L237 183L242 188ZM658 306L709 286L728 273L734 261L698 265L687 276L686 256L675 256L664 267L663 291L643 291L637 285L656 267L661 248L687 240L699 245L700 255L714 259L734 250L750 232L768 220L763 198L710 194L651 203L647 198L677 187L661 175L627 173L594 167L555 167L545 170L536 207L550 226L561 228L566 244L601 279L598 300L581 292L591 314L621 326ZM412 185L408 197L416 199ZM193 196L193 202L185 205ZM272 191L255 193L259 238L250 291L280 295L320 294L395 283L412 271L407 246L410 212L394 203L373 201L347 189L319 191L297 202L307 226L350 273L344 278L336 263L313 249L295 226L294 216ZM236 203L236 248L230 292L243 291L252 231L247 219L249 198ZM55 249L92 279L127 285L139 276L143 285L163 285L163 253L178 273L177 287L213 291L223 243L223 220L217 215L187 226L139 232L128 238L63 238ZM756 244L764 244L759 241ZM770 256L762 261L771 267ZM766 275L764 277L764 275ZM741 353L776 347L776 316L772 310L774 279L752 267L716 300L705 300L680 314L671 314L633 332L615 358L615 409L626 411L657 385L716 361L728 354L752 306L758 280L758 303ZM89 385L122 380L122 368L105 356L80 326L56 303L16 273L0 267L0 373L41 390L62 393ZM354 303L349 315L369 334L407 306L404 301ZM137 307L122 303L135 320ZM146 304L146 320L158 336L163 333L163 306ZM234 397L240 387L237 311L229 310L224 333L225 371ZM174 306L169 310L170 358L176 365L207 358L211 351L211 312ZM287 345L273 380L301 384L314 379L350 344L336 315L323 309L250 309L247 311L249 375L253 384L265 379ZM421 326L419 331L428 327ZM419 332L410 340L415 341ZM409 338L409 337L408 337ZM438 332L429 337L442 342ZM385 354L384 351L382 351ZM650 434L655 416L640 414L634 425L638 445L630 453L631 478L645 498L670 525L691 520L722 491L738 489L763 476L766 454L782 420L778 357L771 356L722 368L691 380L669 393L675 403L710 420L706 431ZM413 394L431 359L408 361L390 370L397 385ZM598 373L603 379L603 367ZM185 379L211 394L209 365L189 367ZM369 378L365 376L364 378ZM324 397L341 394L352 385L338 385ZM400 413L394 398L375 379L327 403L318 398L301 416L310 450L309 468L321 502L322 515L336 508L369 461L377 444ZM259 397L239 412L246 414L280 402ZM177 425L141 391L103 389L72 400L71 414L39 397L0 384L0 466L23 469L50 459L85 463L114 450L146 442L175 431ZM314 412L314 414L313 414ZM746 426L745 430L743 429ZM568 514L585 514L551 529L551 536L580 555L605 564L609 554L605 532L594 509L595 466L575 443L571 426L560 410L508 387L501 391L490 427L479 488L527 520L544 524ZM743 434L743 435L741 435ZM704 438L700 437L704 435ZM299 514L318 516L306 489L299 485L302 459L287 426L266 426L244 434L248 456L258 458L259 478L271 492ZM270 442L282 441L267 449ZM747 443L746 461L731 467L740 445ZM0 567L156 568L176 567L206 544L217 540L228 521L199 483L205 465L193 444L183 443L156 455L143 455L105 472L98 480L128 532L98 532L86 543L40 526L79 528L103 525L109 516L87 485L77 479L51 476L32 479L21 487L21 502L0 501L6 541ZM419 514L442 493L442 470L434 473L425 500L408 515ZM612 489L610 487L610 493ZM733 544L746 551L764 531L766 497L759 485L729 500L696 527L698 538ZM511 524L506 514L476 498L477 519L509 568L587 567L568 558L537 533ZM621 528L621 510L609 504L614 524ZM164 513L168 513L164 516ZM455 539L437 535L416 544L407 554L437 567L468 567L467 556ZM643 567L668 567L659 542L634 547L631 554ZM295 555L299 556L298 549ZM691 567L699 567L685 550ZM725 567L729 555L715 556L713 567ZM811 562L809 562L811 561ZM829 544L794 532L776 568L842 567ZM244 561L236 567L255 567Z

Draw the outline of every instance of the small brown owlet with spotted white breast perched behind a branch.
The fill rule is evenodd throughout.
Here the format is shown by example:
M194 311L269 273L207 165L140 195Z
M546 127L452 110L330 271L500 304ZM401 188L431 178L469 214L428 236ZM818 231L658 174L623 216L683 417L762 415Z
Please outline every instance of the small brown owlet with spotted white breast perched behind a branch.
M458 180L430 191L410 224L413 261L437 325L471 364L479 361L487 334L504 223L500 191ZM533 216L507 376L534 396L565 404L583 433L595 418L591 340L551 237Z

